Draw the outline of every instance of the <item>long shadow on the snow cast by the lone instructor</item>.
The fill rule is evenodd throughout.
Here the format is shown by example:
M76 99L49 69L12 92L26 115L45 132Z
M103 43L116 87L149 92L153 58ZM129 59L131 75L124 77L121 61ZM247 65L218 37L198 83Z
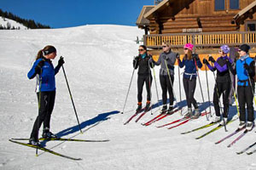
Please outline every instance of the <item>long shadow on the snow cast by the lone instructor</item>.
M80 123L80 127L81 127L81 130L82 132L84 133L85 131L89 130L91 127L95 127L96 125L98 125L99 123L101 122L104 122L104 121L107 121L108 119L110 119L109 116L111 115L116 115L118 114L119 111L110 111L110 112L106 112L106 113L102 113L102 114L99 114L98 116L90 119L90 120L87 120L87 121L84 121L84 122L81 122ZM91 126L93 125L93 126ZM91 127L89 127L91 126ZM87 129L84 129L85 127L89 127ZM83 130L84 129L84 130ZM64 130L61 130L61 132L59 133L55 133L58 137L63 137L63 136L67 136L69 134L72 134L72 133L77 133L77 132L80 132L80 129L79 129L79 125L76 125L76 126L73 126L73 127L67 127L66 129ZM77 135L77 134L76 134ZM43 146L45 146L45 144L47 143L47 140L44 140L43 142L41 142L41 144Z

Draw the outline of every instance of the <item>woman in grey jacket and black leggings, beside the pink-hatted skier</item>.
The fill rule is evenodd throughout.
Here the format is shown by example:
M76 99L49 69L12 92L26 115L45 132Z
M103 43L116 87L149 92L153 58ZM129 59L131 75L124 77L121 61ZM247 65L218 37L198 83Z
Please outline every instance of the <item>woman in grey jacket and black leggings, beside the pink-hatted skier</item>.
M163 42L163 53L160 54L159 59L154 62L154 65L161 65L160 67L160 85L162 88L163 108L162 112L167 111L167 91L169 94L170 105L168 111L173 109L173 82L174 82L174 64L176 61L177 53L173 53L170 42ZM166 67L167 65L167 67ZM168 69L168 70L167 70ZM168 75L170 74L170 75ZM171 77L171 80L170 80ZM172 84L171 84L172 83Z

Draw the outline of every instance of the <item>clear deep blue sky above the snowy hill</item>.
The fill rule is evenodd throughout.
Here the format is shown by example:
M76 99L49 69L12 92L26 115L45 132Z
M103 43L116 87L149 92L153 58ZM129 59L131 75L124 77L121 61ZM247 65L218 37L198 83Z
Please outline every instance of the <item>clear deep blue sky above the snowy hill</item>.
M1 0L0 8L54 28L94 24L136 26L143 5L154 0Z

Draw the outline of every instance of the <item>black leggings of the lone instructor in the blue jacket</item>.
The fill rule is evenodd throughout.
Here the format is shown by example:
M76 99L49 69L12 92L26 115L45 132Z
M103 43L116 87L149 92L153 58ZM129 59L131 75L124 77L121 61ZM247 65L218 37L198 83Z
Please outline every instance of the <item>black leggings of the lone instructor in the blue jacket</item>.
M31 138L38 139L38 131L39 128L42 125L42 122L44 122L44 129L48 128L49 129L49 122L50 122L50 116L51 113L54 109L55 105L55 91L52 92L41 92L41 98L39 99L39 94L38 93L38 103L39 108L38 108L38 117L36 121L34 122L33 128L32 128L32 133L31 133Z

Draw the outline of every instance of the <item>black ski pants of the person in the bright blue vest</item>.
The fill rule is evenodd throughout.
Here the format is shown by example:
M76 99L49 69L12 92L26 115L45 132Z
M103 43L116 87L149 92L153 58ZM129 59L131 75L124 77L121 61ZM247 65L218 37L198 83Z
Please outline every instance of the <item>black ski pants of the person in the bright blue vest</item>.
M254 85L253 85L253 91L251 86L237 86L240 121L246 122L246 110L245 110L246 105L247 105L247 121L249 122L254 121L253 93L254 93Z

